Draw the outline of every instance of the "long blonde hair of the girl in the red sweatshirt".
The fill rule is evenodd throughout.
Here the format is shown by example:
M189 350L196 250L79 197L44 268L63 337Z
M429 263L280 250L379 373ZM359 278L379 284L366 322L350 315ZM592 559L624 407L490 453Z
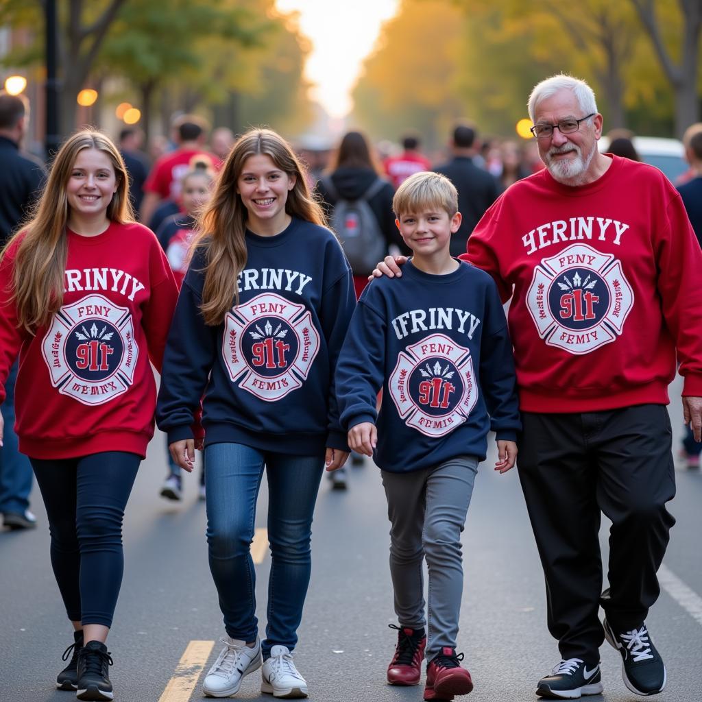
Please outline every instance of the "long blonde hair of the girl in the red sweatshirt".
M68 255L66 186L78 153L84 149L102 151L112 161L117 191L107 206L107 218L123 224L134 221L127 171L117 147L105 134L93 129L69 137L53 159L46 185L29 220L19 227L0 254L4 258L21 237L15 253L11 296L17 308L18 326L32 334L37 327L48 324L63 303Z

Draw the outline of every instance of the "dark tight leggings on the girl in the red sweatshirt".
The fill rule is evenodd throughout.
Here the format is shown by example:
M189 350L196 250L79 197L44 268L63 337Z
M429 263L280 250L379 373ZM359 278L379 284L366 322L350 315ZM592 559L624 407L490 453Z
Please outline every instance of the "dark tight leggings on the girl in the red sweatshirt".
M51 531L51 565L71 621L112 625L124 571L122 518L140 456L31 458Z

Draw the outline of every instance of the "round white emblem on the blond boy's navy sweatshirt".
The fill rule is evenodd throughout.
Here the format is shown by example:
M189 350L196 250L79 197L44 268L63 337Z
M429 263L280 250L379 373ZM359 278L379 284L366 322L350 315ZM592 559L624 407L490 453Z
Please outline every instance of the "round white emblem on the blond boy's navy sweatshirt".
M388 388L404 423L442 437L468 418L477 402L470 351L444 334L432 334L397 357Z

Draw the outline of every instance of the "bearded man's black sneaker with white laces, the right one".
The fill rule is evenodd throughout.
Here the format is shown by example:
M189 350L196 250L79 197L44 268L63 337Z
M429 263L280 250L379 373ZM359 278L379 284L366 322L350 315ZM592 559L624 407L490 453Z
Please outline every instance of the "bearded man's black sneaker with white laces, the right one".
M665 687L665 665L643 622L630 631L614 633L607 618L604 638L621 654L621 677L637 695L654 695Z

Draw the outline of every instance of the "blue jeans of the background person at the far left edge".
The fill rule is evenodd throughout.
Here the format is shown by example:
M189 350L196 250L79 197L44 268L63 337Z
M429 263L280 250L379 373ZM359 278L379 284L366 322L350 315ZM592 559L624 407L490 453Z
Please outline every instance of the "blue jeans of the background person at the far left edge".
M15 380L17 362L13 364L5 382L6 398L2 405L5 419L4 446L0 449L0 512L23 515L29 508L32 492L32 465L19 451L15 434Z

